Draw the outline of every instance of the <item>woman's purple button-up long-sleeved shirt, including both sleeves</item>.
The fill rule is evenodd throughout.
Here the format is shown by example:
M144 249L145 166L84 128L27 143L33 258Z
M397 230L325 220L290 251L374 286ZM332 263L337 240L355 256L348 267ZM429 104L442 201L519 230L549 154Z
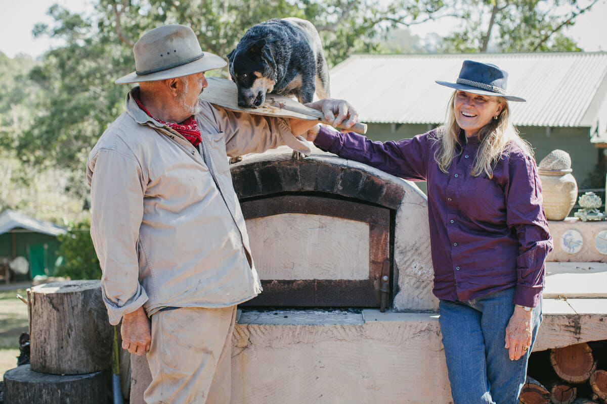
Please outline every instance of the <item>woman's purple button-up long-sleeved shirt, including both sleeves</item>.
M439 143L433 134L382 143L321 128L314 144L404 179L427 181L436 297L472 300L516 286L514 303L537 306L552 237L534 158L512 145L492 179L473 177L479 142L462 135L463 148L443 173L434 159Z

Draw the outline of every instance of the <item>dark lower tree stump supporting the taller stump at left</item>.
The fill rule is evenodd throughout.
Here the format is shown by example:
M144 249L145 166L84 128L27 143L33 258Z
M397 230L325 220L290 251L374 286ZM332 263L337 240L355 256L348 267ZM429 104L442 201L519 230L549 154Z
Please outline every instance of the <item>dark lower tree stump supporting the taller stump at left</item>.
M21 365L4 373L4 400L10 404L103 404L108 391L105 372L59 376Z

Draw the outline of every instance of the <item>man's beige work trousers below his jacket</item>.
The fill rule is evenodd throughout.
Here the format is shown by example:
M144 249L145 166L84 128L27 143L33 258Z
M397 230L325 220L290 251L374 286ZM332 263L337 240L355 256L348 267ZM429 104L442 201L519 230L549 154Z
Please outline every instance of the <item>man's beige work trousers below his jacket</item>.
M229 404L236 306L152 315L147 404Z

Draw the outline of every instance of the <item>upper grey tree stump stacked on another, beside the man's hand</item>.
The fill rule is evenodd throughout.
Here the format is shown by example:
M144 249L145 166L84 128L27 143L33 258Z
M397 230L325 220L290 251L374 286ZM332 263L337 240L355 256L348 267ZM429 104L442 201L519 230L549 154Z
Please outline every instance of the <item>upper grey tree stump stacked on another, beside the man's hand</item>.
M33 371L63 375L109 368L113 333L99 280L46 283L27 294Z

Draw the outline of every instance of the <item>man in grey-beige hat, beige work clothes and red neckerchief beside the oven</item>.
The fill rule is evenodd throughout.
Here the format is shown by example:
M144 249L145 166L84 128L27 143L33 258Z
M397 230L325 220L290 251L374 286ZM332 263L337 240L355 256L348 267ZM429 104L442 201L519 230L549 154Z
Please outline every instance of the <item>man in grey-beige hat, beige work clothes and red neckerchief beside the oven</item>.
M87 162L91 236L110 323L123 348L148 353L147 403L229 403L236 305L261 292L228 156L262 152L316 122L215 108L198 98L224 67L194 31L165 25L134 46L138 82ZM337 125L345 101L311 104ZM302 144L302 150L305 150Z

